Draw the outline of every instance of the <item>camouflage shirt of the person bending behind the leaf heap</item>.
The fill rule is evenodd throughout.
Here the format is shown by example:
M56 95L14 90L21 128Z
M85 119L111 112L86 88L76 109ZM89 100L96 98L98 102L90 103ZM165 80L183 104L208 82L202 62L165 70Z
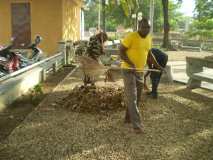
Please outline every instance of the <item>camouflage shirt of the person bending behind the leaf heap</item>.
M87 46L87 50L86 50L86 54L95 59L98 60L98 58L104 54L103 52L103 46L100 43L100 41L97 39L96 36L92 36L89 40L88 46Z

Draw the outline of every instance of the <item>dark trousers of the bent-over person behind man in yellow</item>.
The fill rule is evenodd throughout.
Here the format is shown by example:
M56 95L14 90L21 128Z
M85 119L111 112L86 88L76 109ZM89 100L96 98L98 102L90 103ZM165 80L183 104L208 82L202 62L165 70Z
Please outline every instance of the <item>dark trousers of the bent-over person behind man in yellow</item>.
M151 79L151 83L152 83L152 92L151 94L154 97L158 96L158 85L160 83L160 78L161 78L162 72L152 72L150 74L150 79Z

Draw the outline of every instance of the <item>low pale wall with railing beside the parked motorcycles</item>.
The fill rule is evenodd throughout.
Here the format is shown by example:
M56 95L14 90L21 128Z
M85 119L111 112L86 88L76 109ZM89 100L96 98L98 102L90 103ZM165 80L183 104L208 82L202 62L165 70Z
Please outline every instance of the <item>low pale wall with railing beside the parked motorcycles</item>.
M27 93L36 84L44 81L51 71L56 72L64 65L70 64L73 57L72 43L60 42L59 52L56 55L1 77L0 110Z

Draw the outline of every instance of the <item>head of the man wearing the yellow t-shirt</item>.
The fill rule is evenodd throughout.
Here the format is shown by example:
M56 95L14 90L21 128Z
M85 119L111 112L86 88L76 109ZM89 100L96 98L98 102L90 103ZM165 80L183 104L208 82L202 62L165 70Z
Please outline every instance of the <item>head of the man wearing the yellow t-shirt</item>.
M149 25L149 21L146 18L142 18L142 20L139 21L138 32L143 38L145 38L149 34L150 25Z

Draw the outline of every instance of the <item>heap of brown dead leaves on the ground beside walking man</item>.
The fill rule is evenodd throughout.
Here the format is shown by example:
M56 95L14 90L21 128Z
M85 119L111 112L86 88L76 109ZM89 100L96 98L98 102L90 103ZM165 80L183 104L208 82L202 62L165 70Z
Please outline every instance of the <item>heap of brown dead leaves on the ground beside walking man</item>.
M76 86L62 101L63 107L71 111L107 113L125 109L123 94L122 88Z

